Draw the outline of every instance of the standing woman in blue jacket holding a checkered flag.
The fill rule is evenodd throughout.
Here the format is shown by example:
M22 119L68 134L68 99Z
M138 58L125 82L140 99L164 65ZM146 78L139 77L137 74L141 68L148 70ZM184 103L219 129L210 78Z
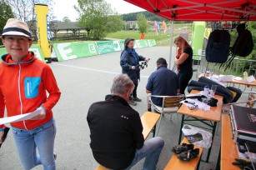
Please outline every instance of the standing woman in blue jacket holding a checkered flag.
M124 50L121 53L120 65L122 67L122 73L128 74L128 77L130 77L134 83L133 93L128 103L136 106L136 102L141 102L141 99L137 97L138 80L140 79L140 69L138 65L139 61L148 62L148 58L139 56L133 47L134 39L130 37L126 38L124 41Z

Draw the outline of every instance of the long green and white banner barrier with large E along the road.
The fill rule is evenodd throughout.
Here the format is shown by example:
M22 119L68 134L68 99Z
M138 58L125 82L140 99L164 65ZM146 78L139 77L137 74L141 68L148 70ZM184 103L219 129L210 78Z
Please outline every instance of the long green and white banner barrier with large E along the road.
M52 58L57 57L58 62L76 59L80 57L90 57L100 54L118 52L124 49L123 46L124 40L116 41L105 41L105 42L65 42L65 43L53 43L53 52ZM140 47L153 47L156 46L154 39L148 40L135 40L134 48ZM33 51L38 59L45 62L43 57L43 52L39 45L33 44L29 48L30 51ZM0 55L8 53L5 47L0 48Z

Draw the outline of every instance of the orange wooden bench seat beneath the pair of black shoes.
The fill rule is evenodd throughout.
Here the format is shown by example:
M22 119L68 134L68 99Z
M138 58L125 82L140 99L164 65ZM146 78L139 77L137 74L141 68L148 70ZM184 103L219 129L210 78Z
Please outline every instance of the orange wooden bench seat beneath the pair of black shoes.
M187 138L183 138L183 141L181 143L188 143ZM179 160L176 156L176 154L173 154L173 157L170 159L164 170L177 170L177 169L182 169L182 170L194 170L199 168L200 164L200 159L203 153L203 148L202 147L197 147L194 146L194 148L199 148L199 154L198 158L193 158L188 162L183 162Z

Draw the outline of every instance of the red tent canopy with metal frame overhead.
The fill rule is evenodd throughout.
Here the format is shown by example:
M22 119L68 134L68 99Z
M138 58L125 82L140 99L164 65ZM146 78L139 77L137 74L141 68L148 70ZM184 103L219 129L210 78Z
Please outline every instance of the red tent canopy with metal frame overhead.
M256 21L256 0L124 0L173 21Z

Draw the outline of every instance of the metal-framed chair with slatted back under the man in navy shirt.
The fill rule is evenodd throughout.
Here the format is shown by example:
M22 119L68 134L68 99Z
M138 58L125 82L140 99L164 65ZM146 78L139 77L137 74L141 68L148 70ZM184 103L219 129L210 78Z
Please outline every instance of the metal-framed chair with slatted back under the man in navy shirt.
M158 105L154 104L151 99L152 97L163 98L162 106L158 106ZM170 114L170 113L175 113L175 112L177 113L178 107L180 105L180 101L183 100L183 97L184 97L183 94L179 94L177 96L158 96L158 95L148 94L148 102L150 102L150 104L153 106L153 108L155 109L156 112L161 114L160 120L158 122L158 128L157 128L156 135L158 135L158 131L159 131L159 128L161 125L163 114L166 114L166 113ZM173 114L171 114L171 120L172 120L172 116L173 116Z

